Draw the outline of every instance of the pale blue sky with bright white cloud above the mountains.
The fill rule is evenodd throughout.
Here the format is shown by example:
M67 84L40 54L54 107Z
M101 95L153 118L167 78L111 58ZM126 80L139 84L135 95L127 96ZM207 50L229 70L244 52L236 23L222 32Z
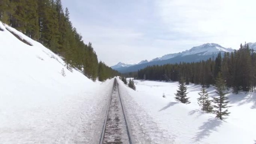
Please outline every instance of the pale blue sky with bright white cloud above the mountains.
M70 20L112 66L204 43L256 42L256 0L62 0Z

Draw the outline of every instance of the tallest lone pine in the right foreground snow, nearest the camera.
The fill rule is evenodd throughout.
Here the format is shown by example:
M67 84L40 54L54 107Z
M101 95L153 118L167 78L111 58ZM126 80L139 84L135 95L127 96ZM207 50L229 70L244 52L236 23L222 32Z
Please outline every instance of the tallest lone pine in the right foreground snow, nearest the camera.
M225 92L226 90L226 83L222 79L220 73L217 76L216 79L216 93L218 94L217 97L213 97L213 102L214 102L214 113L216 114L216 117L219 119L225 119L223 116L228 116L228 97L225 96L227 93Z

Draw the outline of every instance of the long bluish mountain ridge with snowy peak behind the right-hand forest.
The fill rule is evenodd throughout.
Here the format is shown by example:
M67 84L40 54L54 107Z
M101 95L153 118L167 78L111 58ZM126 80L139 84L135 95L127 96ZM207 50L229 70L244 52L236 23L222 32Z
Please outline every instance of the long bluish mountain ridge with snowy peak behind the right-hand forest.
M179 53L171 53L164 55L159 58L152 59L149 62L144 62L142 64L135 64L131 66L125 66L125 67L112 67L113 69L121 72L121 73L127 73L127 72L133 72L140 70L141 68L145 68L149 65L163 65L163 64L173 64L173 63L179 63L179 62L196 62L201 60L206 60L208 58L216 57L217 54L224 53L224 52L232 52L233 49L231 48L224 48L223 46L220 46L216 43L205 43L200 46L195 46L189 50L185 50L183 52Z

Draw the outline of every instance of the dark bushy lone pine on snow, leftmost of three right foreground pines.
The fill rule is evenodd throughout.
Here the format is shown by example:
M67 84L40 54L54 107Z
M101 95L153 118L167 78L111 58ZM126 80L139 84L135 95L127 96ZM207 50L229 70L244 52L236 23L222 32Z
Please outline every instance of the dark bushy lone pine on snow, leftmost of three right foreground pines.
M176 101L182 102L184 104L189 104L190 101L187 98L187 87L185 86L185 81L183 79L180 80L179 82L179 90L177 90L177 93L175 94Z

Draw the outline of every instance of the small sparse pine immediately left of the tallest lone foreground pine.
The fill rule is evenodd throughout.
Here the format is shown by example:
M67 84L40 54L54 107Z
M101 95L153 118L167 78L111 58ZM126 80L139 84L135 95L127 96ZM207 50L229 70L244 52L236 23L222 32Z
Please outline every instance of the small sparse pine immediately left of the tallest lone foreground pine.
M201 110L207 113L211 113L213 111L213 107L211 106L211 101L208 98L208 93L205 88L202 88L198 95L200 95L197 100L198 104L202 107Z

